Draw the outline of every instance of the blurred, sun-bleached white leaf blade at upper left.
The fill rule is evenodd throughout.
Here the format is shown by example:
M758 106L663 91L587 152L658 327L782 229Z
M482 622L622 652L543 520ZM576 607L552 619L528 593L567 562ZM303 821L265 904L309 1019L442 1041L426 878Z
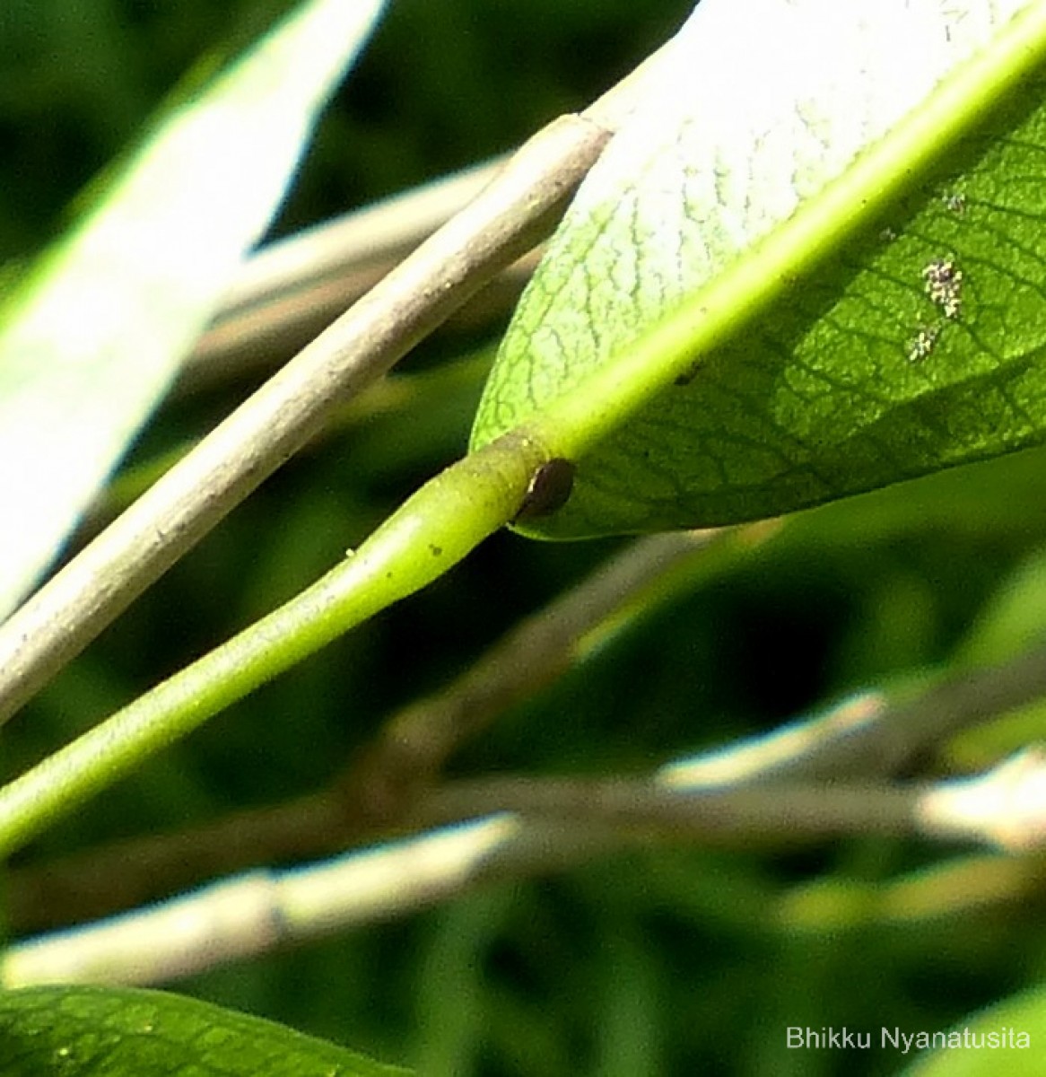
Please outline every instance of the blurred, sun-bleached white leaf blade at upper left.
M154 129L0 314L0 617L50 563L272 216L382 0L314 0Z

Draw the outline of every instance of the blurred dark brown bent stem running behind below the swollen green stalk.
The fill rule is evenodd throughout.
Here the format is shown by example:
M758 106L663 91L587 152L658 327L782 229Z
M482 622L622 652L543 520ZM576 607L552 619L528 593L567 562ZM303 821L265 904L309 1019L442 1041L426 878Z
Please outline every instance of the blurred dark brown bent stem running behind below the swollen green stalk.
M607 632L678 595L680 576L690 586L695 574L704 577L744 556L754 544L753 530L733 537L670 533L633 543L521 621L437 693L394 713L324 789L175 834L123 839L12 868L12 929L113 913L222 872L331 855L387 834L427 793L425 781L437 778L449 755L574 668Z

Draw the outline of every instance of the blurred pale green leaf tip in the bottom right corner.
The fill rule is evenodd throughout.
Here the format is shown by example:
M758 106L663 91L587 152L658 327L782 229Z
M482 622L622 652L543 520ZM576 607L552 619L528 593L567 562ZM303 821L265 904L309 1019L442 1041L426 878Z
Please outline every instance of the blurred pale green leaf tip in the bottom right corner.
M938 1043L943 1037L945 1049L919 1059L904 1071L904 1077L1038 1077L1046 1037L1046 990L1014 995L937 1036Z

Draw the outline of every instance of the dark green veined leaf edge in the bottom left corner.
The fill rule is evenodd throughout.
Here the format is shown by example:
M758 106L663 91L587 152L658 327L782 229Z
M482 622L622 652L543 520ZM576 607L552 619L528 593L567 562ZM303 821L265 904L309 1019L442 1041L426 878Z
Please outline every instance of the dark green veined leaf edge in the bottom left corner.
M408 1073L195 998L129 988L0 993L4 1077L394 1077Z

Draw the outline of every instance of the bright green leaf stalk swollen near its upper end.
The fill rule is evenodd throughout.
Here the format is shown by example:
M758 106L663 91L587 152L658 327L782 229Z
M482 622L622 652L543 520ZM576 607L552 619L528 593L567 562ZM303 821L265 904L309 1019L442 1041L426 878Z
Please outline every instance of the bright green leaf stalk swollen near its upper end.
M414 493L307 590L0 789L0 855L154 752L442 575L510 520L549 453L520 431Z

